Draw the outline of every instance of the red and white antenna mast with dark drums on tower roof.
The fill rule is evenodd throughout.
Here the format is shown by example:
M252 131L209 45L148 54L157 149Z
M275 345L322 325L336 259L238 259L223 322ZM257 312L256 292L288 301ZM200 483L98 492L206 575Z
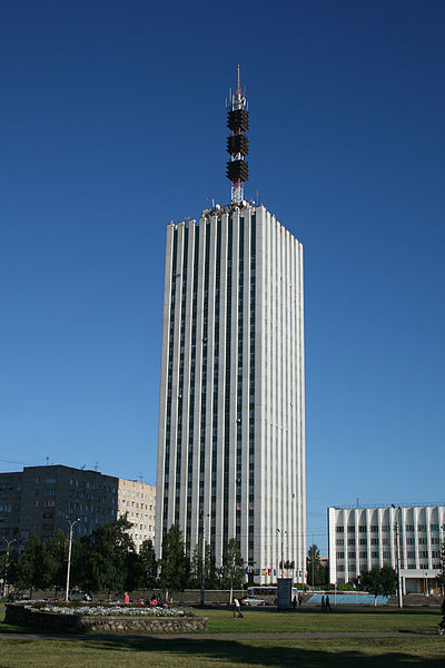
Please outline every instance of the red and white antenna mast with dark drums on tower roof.
M244 199L244 184L248 179L248 165L245 157L249 153L249 141L245 135L249 129L249 112L247 100L241 91L239 65L237 88L231 96L230 110L227 112L227 127L231 130L231 135L227 137L227 153L230 154L227 178L231 181L231 204L239 204Z

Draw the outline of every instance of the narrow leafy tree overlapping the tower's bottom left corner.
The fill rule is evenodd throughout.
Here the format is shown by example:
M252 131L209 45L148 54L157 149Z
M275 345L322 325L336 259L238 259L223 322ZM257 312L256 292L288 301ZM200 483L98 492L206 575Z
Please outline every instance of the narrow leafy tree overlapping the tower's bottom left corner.
M190 563L186 557L186 546L179 524L171 524L164 534L162 558L159 560L160 574L159 584L168 592L184 591Z

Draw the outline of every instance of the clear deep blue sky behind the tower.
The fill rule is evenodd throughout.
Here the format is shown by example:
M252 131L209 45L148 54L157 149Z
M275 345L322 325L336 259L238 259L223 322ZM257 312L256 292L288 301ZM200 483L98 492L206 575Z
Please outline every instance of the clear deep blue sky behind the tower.
M445 3L4 0L0 470L156 480L166 224L250 180L305 247L308 541L445 498Z

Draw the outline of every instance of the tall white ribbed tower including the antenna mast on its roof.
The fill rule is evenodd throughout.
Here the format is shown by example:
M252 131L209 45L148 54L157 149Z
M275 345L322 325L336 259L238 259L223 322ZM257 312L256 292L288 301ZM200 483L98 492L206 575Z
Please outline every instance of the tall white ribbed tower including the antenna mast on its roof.
M301 579L306 553L301 244L244 200L248 111L228 111L231 204L170 223L156 546L178 522L217 564L235 538L256 576Z

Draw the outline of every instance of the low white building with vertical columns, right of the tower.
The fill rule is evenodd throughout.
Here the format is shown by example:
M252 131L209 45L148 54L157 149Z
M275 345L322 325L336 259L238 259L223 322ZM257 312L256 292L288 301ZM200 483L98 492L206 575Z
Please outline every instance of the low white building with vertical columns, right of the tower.
M444 531L441 503L329 508L329 581L349 582L384 564L397 570L398 553L403 592L431 593L441 570Z

